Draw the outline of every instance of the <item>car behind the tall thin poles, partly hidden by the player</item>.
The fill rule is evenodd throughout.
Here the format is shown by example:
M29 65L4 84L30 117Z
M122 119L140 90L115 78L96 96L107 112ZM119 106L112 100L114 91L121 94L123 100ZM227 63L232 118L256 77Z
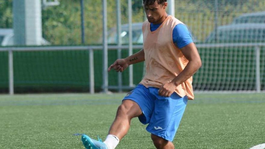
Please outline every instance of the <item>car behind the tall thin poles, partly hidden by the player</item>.
M143 35L142 35L142 24L141 23L133 23L132 24L132 33L133 44L142 44L143 43ZM129 25L123 24L121 26L121 44L129 44ZM198 39L192 36L193 42L198 42ZM108 32L108 44L117 44L117 29L112 28Z

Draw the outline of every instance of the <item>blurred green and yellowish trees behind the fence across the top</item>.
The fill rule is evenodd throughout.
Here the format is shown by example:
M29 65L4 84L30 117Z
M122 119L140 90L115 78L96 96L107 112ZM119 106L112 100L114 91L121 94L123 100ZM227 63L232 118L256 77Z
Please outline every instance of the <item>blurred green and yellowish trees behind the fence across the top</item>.
M116 27L116 1L108 2L108 29ZM128 0L121 0L122 23L128 23ZM86 44L101 43L102 2L84 0ZM142 0L133 0L133 22L145 18ZM264 11L264 0L218 0L218 25L226 25L243 13ZM176 17L203 41L214 30L214 0L175 0ZM12 28L12 0L0 0L0 27ZM42 34L53 45L81 44L80 0L61 0L42 10Z

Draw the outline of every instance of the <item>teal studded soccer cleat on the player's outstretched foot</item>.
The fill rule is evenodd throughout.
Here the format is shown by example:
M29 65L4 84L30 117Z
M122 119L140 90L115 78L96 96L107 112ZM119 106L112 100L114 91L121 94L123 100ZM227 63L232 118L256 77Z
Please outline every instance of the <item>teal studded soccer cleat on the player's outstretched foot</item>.
M82 142L86 149L108 149L107 145L98 137L98 141L87 135L82 135Z

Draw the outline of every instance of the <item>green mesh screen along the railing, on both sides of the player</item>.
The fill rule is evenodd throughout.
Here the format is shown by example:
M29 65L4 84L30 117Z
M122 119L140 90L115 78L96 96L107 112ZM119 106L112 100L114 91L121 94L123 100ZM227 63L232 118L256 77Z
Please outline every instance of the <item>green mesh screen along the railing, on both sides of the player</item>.
M136 53L139 50L134 50ZM251 91L256 89L255 47L199 48L203 66L195 73L196 91ZM122 50L122 57L128 56ZM260 48L261 90L265 90L265 47ZM89 51L15 51L15 92L88 92ZM108 51L108 65L117 59L117 50ZM8 52L0 52L0 88L8 92ZM133 65L133 83L144 73L144 63ZM118 85L114 70L108 73L109 85ZM94 50L95 91L101 91L102 51ZM122 73L129 85L129 69Z

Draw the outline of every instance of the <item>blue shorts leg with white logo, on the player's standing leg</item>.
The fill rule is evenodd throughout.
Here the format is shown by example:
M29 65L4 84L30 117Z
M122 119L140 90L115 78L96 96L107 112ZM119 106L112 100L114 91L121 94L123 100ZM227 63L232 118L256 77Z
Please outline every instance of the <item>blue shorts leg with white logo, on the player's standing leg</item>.
M158 92L155 94L157 97L155 108L146 130L168 141L173 141L188 98L180 97L175 92L170 97L159 96Z

